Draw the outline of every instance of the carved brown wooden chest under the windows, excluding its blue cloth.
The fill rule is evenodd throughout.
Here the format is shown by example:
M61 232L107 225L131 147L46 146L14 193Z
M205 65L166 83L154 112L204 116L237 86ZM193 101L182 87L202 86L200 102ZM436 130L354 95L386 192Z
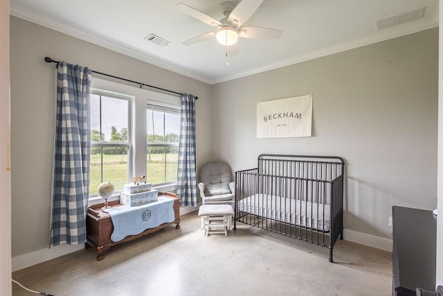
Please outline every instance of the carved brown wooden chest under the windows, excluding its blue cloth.
M134 239L141 238L152 232L156 232L170 224L177 224L176 229L180 228L180 199L177 195L173 193L159 193L159 196L164 196L174 199L174 216L175 220L170 223L163 223L155 228L146 229L141 234L136 234L133 236L127 236L121 241L111 241L111 234L114 231L114 225L112 224L111 216L102 211L101 207L104 204L94 204L88 208L87 218L86 218L86 229L87 229L87 243L85 247L93 247L97 251L97 260L105 259L105 252L113 245L118 245L119 243L125 243L127 241L133 241ZM111 207L120 207L122 204L118 200L114 202L109 202Z

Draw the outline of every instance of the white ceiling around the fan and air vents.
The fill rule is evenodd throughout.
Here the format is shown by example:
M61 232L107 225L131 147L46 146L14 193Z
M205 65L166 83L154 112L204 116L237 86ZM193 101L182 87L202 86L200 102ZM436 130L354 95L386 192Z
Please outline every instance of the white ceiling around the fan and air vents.
M10 0L10 14L211 84L438 25L438 0L264 0L245 25L280 29L282 37L240 38L226 67L215 40L181 44L213 27L174 7L179 2L224 17L223 0ZM377 21L423 7L422 19L377 31ZM147 42L151 33L171 43Z

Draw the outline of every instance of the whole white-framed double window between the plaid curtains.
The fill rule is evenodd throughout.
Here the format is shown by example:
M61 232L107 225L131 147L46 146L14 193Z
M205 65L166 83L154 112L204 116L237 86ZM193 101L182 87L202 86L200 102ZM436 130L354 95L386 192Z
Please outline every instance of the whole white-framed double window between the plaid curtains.
M139 175L155 185L168 184L168 191L175 189L180 102L177 96L93 77L91 200L101 182L111 181L118 193Z

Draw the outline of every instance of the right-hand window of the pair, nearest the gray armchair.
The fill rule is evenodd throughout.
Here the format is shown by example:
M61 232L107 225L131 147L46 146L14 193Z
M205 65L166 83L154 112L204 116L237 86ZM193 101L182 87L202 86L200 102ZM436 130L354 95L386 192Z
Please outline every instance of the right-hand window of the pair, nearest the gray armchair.
M148 101L146 122L146 164L149 182L177 182L180 106Z

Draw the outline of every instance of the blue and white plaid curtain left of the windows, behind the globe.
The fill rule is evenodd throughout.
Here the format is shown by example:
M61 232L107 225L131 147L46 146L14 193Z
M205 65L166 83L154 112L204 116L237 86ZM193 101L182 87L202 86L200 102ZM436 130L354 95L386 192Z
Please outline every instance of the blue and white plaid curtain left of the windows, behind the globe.
M86 242L89 198L91 70L57 65L53 207L49 247Z

